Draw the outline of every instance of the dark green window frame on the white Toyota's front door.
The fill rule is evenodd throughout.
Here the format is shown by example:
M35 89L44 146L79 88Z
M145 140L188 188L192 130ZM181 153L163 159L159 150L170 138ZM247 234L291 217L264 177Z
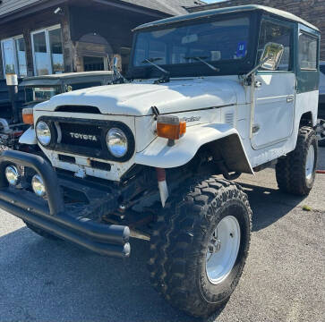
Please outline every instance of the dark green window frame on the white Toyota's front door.
M289 71L268 71L268 70L261 70L259 69L257 71L257 73L259 74L265 74L265 73L295 73L295 23L291 22L291 21L284 21L281 19L278 19L276 17L273 16L268 16L268 15L261 15L261 20L260 20L260 30L259 30L259 34L258 34L258 41L257 41L257 47L256 50L259 47L259 40L260 40L260 35L261 35L261 22L262 21L269 21L272 23L277 23L280 26L284 26L287 27L288 29L290 29L290 61L289 61L289 67L290 70ZM258 55L256 55L256 66L260 63L257 61Z

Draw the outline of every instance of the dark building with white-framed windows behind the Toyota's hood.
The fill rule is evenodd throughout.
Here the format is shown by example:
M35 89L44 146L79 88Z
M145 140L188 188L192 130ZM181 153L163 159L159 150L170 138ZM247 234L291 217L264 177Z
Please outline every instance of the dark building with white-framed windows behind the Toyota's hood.
M201 0L0 0L0 79L107 70L129 62L134 27Z

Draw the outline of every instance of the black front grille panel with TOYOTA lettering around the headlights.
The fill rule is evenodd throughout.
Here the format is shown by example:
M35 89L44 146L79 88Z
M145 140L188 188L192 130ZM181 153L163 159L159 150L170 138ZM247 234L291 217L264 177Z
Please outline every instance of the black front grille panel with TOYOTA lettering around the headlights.
M133 132L122 122L52 116L42 116L39 121L47 122L53 132L51 144L44 148L118 162L128 161L133 156L135 150ZM129 149L124 157L114 157L107 148L107 131L113 127L124 131L127 137Z

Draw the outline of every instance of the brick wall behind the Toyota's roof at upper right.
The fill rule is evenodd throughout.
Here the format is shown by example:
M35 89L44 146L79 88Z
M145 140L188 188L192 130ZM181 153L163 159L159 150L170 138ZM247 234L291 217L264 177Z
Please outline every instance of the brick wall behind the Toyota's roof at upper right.
M321 30L321 60L325 61L325 0L232 0L194 7L192 12L234 5L261 4L294 13Z

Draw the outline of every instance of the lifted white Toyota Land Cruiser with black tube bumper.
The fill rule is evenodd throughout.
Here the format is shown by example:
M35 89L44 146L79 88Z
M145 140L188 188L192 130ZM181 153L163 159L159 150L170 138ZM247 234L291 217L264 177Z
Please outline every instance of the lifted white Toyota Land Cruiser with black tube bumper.
M158 292L210 315L250 245L252 211L231 180L278 161L280 190L312 189L319 42L310 23L259 5L141 25L130 81L34 108L21 142L41 153L0 157L0 207L102 255L150 241Z

